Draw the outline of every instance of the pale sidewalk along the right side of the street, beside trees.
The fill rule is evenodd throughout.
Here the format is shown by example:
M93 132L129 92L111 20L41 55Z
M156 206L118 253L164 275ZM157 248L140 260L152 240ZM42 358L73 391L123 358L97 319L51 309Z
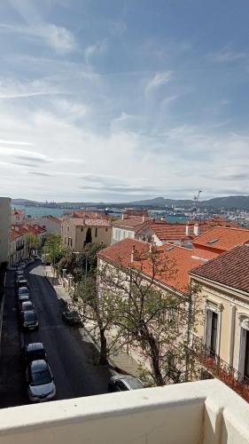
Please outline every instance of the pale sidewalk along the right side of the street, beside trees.
M58 281L58 278L54 277L51 266L44 266L43 274L51 283L51 286L55 290L58 299L62 299L70 306L72 304L72 298L70 297L68 291L64 289L62 284ZM89 337L91 337L91 339L94 341L94 343L97 345L97 348L99 349L99 344L97 343L97 335L94 332L94 325L90 322L84 322L84 330L89 334ZM111 341L111 337L109 337L109 341ZM124 373L139 377L139 362L137 362L130 354L126 353L125 351L119 350L118 353L113 354L112 357L109 359L109 363L113 368L120 369Z

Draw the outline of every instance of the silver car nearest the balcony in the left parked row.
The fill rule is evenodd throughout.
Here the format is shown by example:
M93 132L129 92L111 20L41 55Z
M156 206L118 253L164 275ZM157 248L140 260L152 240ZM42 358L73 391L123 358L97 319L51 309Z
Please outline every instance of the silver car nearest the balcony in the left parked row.
M56 386L47 361L32 361L28 365L27 395L31 402L44 402L55 397Z

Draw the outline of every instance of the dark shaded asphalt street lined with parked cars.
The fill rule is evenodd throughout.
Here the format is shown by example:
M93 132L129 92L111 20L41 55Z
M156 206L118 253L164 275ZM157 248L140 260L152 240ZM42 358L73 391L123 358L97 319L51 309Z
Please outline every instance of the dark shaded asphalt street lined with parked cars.
M5 341L5 345L3 344L4 353L1 360L0 407L27 403L25 375L20 353L22 343L43 342L55 377L57 400L107 392L109 369L97 365L96 347L85 335L83 329L70 328L61 320L62 308L51 284L43 276L43 266L29 267L26 271L31 299L40 324L39 329L24 333L19 330L13 296L13 274L9 272L8 275L7 296L9 298L6 297L4 308L3 343ZM10 337L13 331L14 337ZM8 352L8 345L14 347L12 353ZM14 394L10 394L12 391Z

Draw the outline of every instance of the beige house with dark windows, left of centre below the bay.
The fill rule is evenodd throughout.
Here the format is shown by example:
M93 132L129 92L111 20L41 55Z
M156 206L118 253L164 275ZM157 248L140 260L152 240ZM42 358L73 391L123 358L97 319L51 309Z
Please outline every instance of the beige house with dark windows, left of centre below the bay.
M65 218L61 224L62 242L74 251L82 251L88 242L110 245L112 229L105 218Z

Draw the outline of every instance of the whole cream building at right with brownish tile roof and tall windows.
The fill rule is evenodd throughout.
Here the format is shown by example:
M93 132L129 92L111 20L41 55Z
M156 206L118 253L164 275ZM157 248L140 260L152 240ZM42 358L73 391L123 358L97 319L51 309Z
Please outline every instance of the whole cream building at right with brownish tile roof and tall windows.
M198 361L249 401L249 245L238 245L190 272L200 285L204 317ZM199 338L201 341L199 342ZM199 348L199 345L201 347Z

